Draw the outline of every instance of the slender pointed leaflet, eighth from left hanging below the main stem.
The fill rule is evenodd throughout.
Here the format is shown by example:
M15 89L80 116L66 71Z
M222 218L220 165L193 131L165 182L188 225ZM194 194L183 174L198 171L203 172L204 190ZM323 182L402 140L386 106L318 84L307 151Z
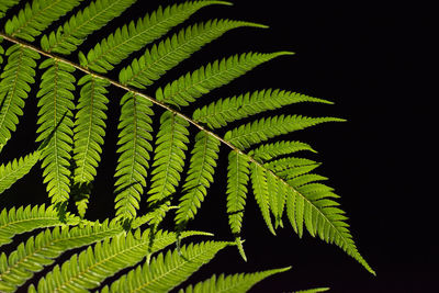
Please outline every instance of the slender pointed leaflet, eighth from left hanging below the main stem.
M256 202L261 210L262 217L266 222L267 227L273 235L275 235L273 225L271 224L269 199L277 195L271 194L275 193L277 188L273 188L274 184L269 187L267 182L267 169L262 168L261 166L251 164L250 172Z

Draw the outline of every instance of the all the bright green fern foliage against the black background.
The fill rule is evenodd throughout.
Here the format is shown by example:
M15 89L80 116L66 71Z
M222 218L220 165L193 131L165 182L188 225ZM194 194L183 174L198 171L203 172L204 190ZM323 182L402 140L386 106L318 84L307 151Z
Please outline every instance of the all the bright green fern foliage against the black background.
M8 16L0 33L0 63L3 56L7 59L0 74L0 150L13 138L27 95L37 99L35 143L43 143L36 151L0 166L0 193L41 161L52 205L3 209L0 213L0 246L12 248L0 253L0 291L22 290L29 282L29 292L168 292L226 246L236 246L246 260L241 233L249 224L244 221L248 196L255 196L273 235L289 222L300 237L307 230L335 244L374 273L356 247L336 201L339 195L323 183L326 177L314 173L319 164L300 156L316 151L306 143L279 138L344 120L260 115L294 103L331 102L283 89L237 93L210 103L199 99L257 66L293 53L240 53L206 63L175 80L161 80L226 32L267 26L237 20L185 25L204 7L230 3L181 1L136 21L127 20L105 38L94 41L89 38L93 32L109 27L136 1L95 0L75 9L80 0L33 0L23 3L16 15L7 15L18 2L0 3L0 18ZM65 18L61 25L52 25L60 18ZM78 52L82 44L91 47L87 54ZM131 57L140 50L138 58ZM119 75L119 81L105 76L111 70ZM34 83L40 88L36 94ZM146 93L151 86L155 97ZM113 94L115 89L124 92L119 97L114 194L94 195L92 184L108 123L115 123L108 119L110 99L119 99ZM192 117L183 111L185 106L193 106L188 110ZM228 154L226 179L215 176L222 153ZM203 207L214 180L225 185L222 192L232 241L182 244L189 236L212 236L187 228ZM92 196L114 199L115 216L103 223L88 221ZM171 225L164 221L169 214ZM176 230L165 230L161 225ZM13 239L24 233L29 235L22 236L22 243ZM176 248L168 249L171 245ZM59 256L71 249L69 259L61 262ZM288 269L213 275L177 290L246 292ZM35 280L42 270L45 275ZM121 277L110 284L108 278L116 273ZM323 291L326 289L307 292Z

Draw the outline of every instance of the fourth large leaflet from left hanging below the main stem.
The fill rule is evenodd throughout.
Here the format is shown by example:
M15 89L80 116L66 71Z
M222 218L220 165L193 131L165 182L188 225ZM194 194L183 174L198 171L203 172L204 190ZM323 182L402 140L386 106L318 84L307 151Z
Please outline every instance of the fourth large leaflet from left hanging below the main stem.
M134 218L139 207L140 195L146 185L145 178L149 168L149 140L153 136L153 103L134 93L126 93L121 100L121 117L117 128L119 149L116 172L115 209L116 216Z

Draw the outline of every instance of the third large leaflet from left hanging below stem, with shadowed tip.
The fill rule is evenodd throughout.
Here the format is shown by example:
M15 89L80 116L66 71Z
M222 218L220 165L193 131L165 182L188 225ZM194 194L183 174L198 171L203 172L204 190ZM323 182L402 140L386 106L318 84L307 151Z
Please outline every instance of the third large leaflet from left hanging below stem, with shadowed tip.
M74 128L74 183L88 184L93 181L97 168L101 160L103 137L105 136L106 103L104 95L108 80L95 78L91 75L82 77L78 81L81 87L80 97L76 106ZM88 196L77 204L83 216L87 209Z

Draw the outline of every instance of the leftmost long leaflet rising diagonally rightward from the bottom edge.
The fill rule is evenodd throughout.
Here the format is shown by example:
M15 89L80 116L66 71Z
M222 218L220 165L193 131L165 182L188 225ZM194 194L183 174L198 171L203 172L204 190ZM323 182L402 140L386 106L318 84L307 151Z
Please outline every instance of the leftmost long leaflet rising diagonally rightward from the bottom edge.
M189 232L182 237L196 234ZM128 232L126 235L105 238L97 243L94 248L89 246L61 266L55 266L40 280L37 292L88 292L99 286L108 277L136 264L145 256L161 250L176 240L177 235L173 233L159 232L150 235L148 229L142 235L136 230L134 234ZM30 288L30 292L35 292L35 289Z

